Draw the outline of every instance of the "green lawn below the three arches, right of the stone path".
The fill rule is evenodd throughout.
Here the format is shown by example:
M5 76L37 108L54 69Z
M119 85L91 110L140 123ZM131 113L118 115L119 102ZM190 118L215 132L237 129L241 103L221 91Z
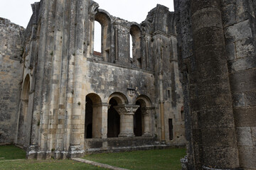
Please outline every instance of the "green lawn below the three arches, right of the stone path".
M85 156L84 159L126 169L180 170L180 159L185 155L186 149L171 148L122 153L91 154Z

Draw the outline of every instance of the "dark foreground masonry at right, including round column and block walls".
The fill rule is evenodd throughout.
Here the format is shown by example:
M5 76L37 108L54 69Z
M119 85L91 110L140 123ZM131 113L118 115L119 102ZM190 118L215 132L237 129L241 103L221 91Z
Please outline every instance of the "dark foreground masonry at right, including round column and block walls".
M255 169L255 3L175 1L175 8L187 168Z

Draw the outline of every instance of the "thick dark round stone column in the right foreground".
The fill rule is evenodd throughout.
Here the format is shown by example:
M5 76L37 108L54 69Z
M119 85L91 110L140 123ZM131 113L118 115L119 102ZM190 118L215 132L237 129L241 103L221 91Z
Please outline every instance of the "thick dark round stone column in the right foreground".
M196 71L191 76L197 75L198 93L190 95L198 98L191 108L201 130L201 135L193 135L201 142L195 154L201 155L203 169L239 167L220 5L219 0L191 1L196 54Z

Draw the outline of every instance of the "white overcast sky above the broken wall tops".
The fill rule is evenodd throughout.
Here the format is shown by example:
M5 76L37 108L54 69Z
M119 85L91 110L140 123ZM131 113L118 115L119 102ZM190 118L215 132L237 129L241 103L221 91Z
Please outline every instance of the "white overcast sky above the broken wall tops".
M0 17L11 20L26 28L32 15L31 4L38 0L0 0ZM141 23L156 4L162 4L174 11L173 0L95 0L100 8L112 16Z

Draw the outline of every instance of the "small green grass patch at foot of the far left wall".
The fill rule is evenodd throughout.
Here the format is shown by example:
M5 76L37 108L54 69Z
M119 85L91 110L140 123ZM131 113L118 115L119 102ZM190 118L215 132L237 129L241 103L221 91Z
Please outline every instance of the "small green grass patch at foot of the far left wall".
M14 145L0 146L0 161L10 159L26 159L26 152Z

